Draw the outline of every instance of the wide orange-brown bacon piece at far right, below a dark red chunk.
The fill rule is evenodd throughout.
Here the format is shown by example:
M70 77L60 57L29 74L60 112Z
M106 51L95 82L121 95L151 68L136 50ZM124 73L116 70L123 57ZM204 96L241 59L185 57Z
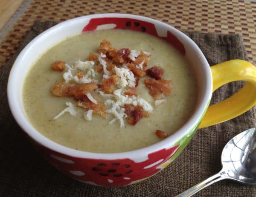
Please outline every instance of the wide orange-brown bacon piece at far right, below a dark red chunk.
M149 89L149 93L154 99L163 99L162 96L170 95L172 92L171 81L168 80L155 80L152 78L145 79L145 85Z

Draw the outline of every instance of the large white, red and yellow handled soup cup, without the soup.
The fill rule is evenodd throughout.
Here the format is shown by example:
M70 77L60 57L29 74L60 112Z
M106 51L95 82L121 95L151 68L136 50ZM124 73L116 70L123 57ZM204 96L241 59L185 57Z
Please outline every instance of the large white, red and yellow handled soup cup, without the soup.
M67 37L102 29L129 29L154 35L173 45L192 63L198 79L198 100L194 113L180 129L161 142L121 153L85 152L47 139L29 122L23 108L22 90L26 74L33 63L47 49ZM212 91L230 81L238 80L247 81L238 93L208 107ZM172 163L198 127L232 119L253 107L256 104L256 69L243 60L227 61L209 67L203 53L189 37L160 21L131 14L93 14L59 23L32 40L20 52L12 67L7 93L15 120L35 148L55 168L84 183L120 186L145 180Z

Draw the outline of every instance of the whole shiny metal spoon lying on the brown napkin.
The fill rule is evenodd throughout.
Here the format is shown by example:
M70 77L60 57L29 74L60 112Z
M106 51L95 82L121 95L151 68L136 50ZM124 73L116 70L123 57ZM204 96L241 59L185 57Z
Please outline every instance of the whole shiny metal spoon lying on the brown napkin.
M219 173L189 188L177 197L189 197L219 180L232 179L239 183L256 184L256 127L233 137L221 154Z

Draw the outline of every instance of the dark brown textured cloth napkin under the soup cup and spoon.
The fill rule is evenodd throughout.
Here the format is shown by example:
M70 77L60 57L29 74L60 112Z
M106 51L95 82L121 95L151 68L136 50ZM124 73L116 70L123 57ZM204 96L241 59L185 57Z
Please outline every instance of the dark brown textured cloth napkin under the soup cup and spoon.
M80 183L49 165L32 147L13 119L6 97L9 71L18 53L35 36L55 25L36 21L20 43L17 54L0 70L0 196L120 196L171 197L221 170L221 151L236 134L255 127L251 109L230 121L198 130L192 141L175 161L157 175L135 185L105 188ZM215 35L185 32L204 52L210 65L231 59L247 60L240 35ZM26 64L26 62L24 62ZM233 82L215 91L212 102L236 92L242 82ZM222 180L200 191L197 196L253 197L256 187Z

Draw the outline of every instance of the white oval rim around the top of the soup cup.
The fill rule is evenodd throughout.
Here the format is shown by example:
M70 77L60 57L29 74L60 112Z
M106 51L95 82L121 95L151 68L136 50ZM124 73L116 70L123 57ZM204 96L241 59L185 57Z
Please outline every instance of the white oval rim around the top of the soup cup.
M78 20L86 20L88 18L99 18L99 17L127 17L137 20L145 20L151 23L158 23L161 26L168 26L168 28L171 30L171 32L175 32L175 34L179 34L184 40L186 40L186 43L189 43L189 45L197 51L197 53L200 55L202 64L204 65L204 70L206 72L206 91L204 92L204 96L202 99L202 102L198 105L197 109L193 113L193 115L190 117L190 119L182 126L180 129L178 129L175 133L173 133L168 138L147 146L145 148L140 148L134 151L127 151L127 152L119 152L119 153L93 153L93 152L86 152L86 151L79 151L72 148L65 147L63 145L60 145L56 142L53 142L52 140L46 138L41 133L39 133L37 130L35 130L34 127L29 123L29 120L26 119L25 116L23 116L22 113L17 113L17 108L20 108L21 106L18 105L17 102L17 96L15 96L15 83L13 79L17 75L16 68L20 66L21 62L20 59L23 58L23 55L26 53L28 49L33 47L35 43L44 36L47 36L52 31L58 30L62 26L68 25L69 23L73 23L74 21ZM192 39L190 39L188 36L186 36L183 32L180 32L179 30L175 29L174 27L163 23L158 20L154 20L148 17L133 15L133 14L116 14L116 13L108 13L108 14L91 14L86 16L77 17L74 19L70 19L61 23L58 23L57 25L47 29L46 31L42 32L40 35L38 35L36 38L34 38L32 41L29 42L29 44L20 52L18 57L15 60L15 63L13 64L12 70L9 74L9 81L7 85L7 96L8 96L8 102L9 107L12 112L12 115L14 116L16 122L20 127L27 133L32 139L34 139L39 144L51 149L52 151L70 156L70 157L78 157L78 158L90 158L90 159L122 159L122 158L139 158L142 155L148 155L150 153L159 151L161 149L165 149L167 146L169 147L170 144L174 145L175 142L180 140L182 137L186 136L186 134L189 133L190 130L200 122L200 118L203 115L204 111L208 107L208 101L211 99L212 96L212 75L211 70L209 67L209 64L207 62L207 59L204 57L203 52L199 49L199 47L195 44ZM21 107L22 108L22 107Z

